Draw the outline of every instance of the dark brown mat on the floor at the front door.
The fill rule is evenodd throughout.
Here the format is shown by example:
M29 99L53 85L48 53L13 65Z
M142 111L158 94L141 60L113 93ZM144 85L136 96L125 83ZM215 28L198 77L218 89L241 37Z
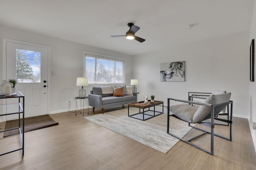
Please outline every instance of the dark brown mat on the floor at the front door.
M20 129L22 131L22 119L20 119ZM45 127L50 127L54 125L58 125L59 123L54 121L52 117L49 115L40 115L40 116L34 116L34 117L27 117L24 119L24 132L34 131L37 129L42 129ZM19 120L10 120L6 121L5 129L12 129L19 127ZM5 131L4 137L17 135L19 133L18 129Z

